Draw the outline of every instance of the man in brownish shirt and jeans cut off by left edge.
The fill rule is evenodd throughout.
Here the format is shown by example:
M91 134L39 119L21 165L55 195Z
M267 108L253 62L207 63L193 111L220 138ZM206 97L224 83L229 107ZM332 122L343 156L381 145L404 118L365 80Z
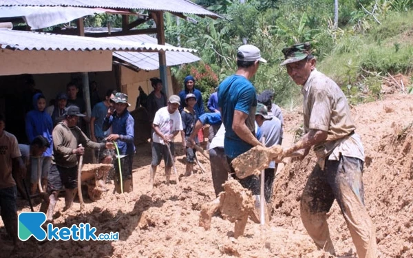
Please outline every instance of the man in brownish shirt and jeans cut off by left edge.
M17 180L23 180L26 167L16 137L4 131L5 126L4 117L0 114L0 211L4 226L17 246L16 182L12 170Z

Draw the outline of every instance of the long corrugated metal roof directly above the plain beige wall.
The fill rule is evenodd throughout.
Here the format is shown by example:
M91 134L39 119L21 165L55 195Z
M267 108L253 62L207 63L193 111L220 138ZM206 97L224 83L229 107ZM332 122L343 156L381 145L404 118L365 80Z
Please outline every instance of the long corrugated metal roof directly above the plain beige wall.
M69 50L91 51L111 50L129 52L196 52L189 48L157 45L142 41L91 38L87 36L68 36L44 32L26 32L0 29L0 48L11 50Z

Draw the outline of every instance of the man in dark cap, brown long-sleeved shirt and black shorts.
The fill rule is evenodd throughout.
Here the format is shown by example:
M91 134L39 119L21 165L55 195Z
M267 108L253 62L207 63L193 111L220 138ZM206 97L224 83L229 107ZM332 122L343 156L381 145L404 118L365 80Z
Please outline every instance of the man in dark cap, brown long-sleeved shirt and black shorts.
M54 206L56 206L59 191L63 186L66 189L65 210L72 207L77 187L78 156L85 153L85 147L91 149L113 149L114 147L112 142L96 143L85 136L85 133L76 126L79 117L85 116L81 114L77 106L67 107L65 112L65 118L54 127L52 133L54 164L50 168L47 185L47 191L51 193L50 204L42 208L43 212L47 209L46 215L49 222L53 220ZM85 147L79 147L79 144Z

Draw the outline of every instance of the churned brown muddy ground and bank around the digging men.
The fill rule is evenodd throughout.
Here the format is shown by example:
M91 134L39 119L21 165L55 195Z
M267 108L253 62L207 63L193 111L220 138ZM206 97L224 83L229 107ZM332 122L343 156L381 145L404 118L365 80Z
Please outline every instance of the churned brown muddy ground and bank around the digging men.
M352 108L366 150L366 206L376 225L381 257L413 257L413 96L392 95L383 101ZM290 144L302 124L299 110L284 112ZM177 148L180 185L165 185L163 162L149 191L149 144L140 145L134 161L134 193L109 193L102 200L85 199L85 210L63 212L61 197L56 226L89 222L98 233L118 231L119 241L45 241L31 238L14 257L331 257L317 251L299 218L299 200L313 169L313 153L301 162L286 164L275 178L270 225L248 221L243 237L233 239L234 226L219 215L211 230L198 226L200 206L215 198L211 174L184 174L184 153ZM208 161L199 155L205 168ZM113 184L109 184L113 189ZM40 205L35 209L39 210ZM23 200L19 211L30 211ZM328 214L337 257L357 257L346 223L335 203ZM0 257L10 257L12 245L0 221Z

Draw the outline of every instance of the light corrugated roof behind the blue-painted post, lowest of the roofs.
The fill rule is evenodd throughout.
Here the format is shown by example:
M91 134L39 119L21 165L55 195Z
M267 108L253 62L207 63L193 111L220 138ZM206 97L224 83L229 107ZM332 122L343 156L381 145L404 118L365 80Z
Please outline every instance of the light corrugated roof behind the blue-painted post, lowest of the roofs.
M148 35L131 35L131 36L113 36L105 39L118 39L122 41L136 41L156 44L157 39ZM167 44L169 45L169 44ZM114 56L121 60L144 70L159 69L158 53L142 52L114 52ZM167 66L182 65L184 63L193 63L200 61L201 58L187 52L167 52Z

